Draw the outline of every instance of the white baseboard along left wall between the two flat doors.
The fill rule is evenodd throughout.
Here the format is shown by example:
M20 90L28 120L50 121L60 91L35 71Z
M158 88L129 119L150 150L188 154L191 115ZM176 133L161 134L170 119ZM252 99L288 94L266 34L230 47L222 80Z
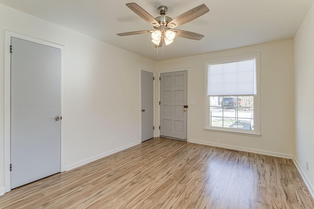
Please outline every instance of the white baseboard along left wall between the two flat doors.
M65 170L68 171L68 170L77 168L77 167L79 167L79 166L82 166L82 165L84 165L84 164L91 163L91 162L93 162L93 161L99 160L99 159L101 159L101 158L104 158L104 157L106 157L106 156L108 156L108 155L111 155L111 154L114 154L114 153L116 153L116 152L120 152L120 151L122 151L122 150L124 150L124 149L130 148L130 147L135 146L135 145L140 144L140 143L141 143L141 141L136 141L136 142L134 142L134 143L131 143L131 144L128 144L128 145L119 147L119 148L114 149L114 150L110 150L110 151L108 151L108 152L102 153L102 154L100 154L100 155L96 155L96 156L94 156L94 157L85 159L85 160L83 160L83 161L79 161L79 162L77 162L77 163L73 163L73 164L70 164L70 165L66 165L66 166L65 166Z

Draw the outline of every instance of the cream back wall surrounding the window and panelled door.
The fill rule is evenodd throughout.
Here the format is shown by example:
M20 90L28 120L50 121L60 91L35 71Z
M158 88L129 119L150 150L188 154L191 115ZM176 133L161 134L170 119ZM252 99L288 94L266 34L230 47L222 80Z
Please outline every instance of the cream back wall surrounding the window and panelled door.
M261 52L262 136L252 137L204 131L204 61L255 52ZM159 72L176 69L188 69L187 99L188 103L191 99L196 101L195 105L188 104L188 141L218 145L216 139L220 139L220 146L287 158L292 157L294 145L292 40L235 48L157 63ZM158 88L156 88L156 95L158 95Z

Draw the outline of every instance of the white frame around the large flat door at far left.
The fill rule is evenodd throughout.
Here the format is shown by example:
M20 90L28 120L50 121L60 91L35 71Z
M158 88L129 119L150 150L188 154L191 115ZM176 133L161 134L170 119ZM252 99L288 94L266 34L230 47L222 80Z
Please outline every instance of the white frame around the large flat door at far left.
M61 49L61 172L65 171L65 46L12 31L4 32L4 189L8 192L11 190L11 37Z

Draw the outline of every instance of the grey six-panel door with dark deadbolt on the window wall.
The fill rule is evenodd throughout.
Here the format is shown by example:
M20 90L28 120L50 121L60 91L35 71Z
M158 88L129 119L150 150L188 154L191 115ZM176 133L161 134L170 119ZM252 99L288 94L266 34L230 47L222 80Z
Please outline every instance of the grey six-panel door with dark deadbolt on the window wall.
M160 137L186 140L187 71L160 73Z

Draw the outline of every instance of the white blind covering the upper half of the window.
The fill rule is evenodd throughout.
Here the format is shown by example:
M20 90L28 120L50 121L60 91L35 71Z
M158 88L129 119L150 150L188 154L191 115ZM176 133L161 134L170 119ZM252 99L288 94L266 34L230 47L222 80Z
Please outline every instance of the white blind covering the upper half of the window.
M208 95L255 95L256 59L208 65Z

